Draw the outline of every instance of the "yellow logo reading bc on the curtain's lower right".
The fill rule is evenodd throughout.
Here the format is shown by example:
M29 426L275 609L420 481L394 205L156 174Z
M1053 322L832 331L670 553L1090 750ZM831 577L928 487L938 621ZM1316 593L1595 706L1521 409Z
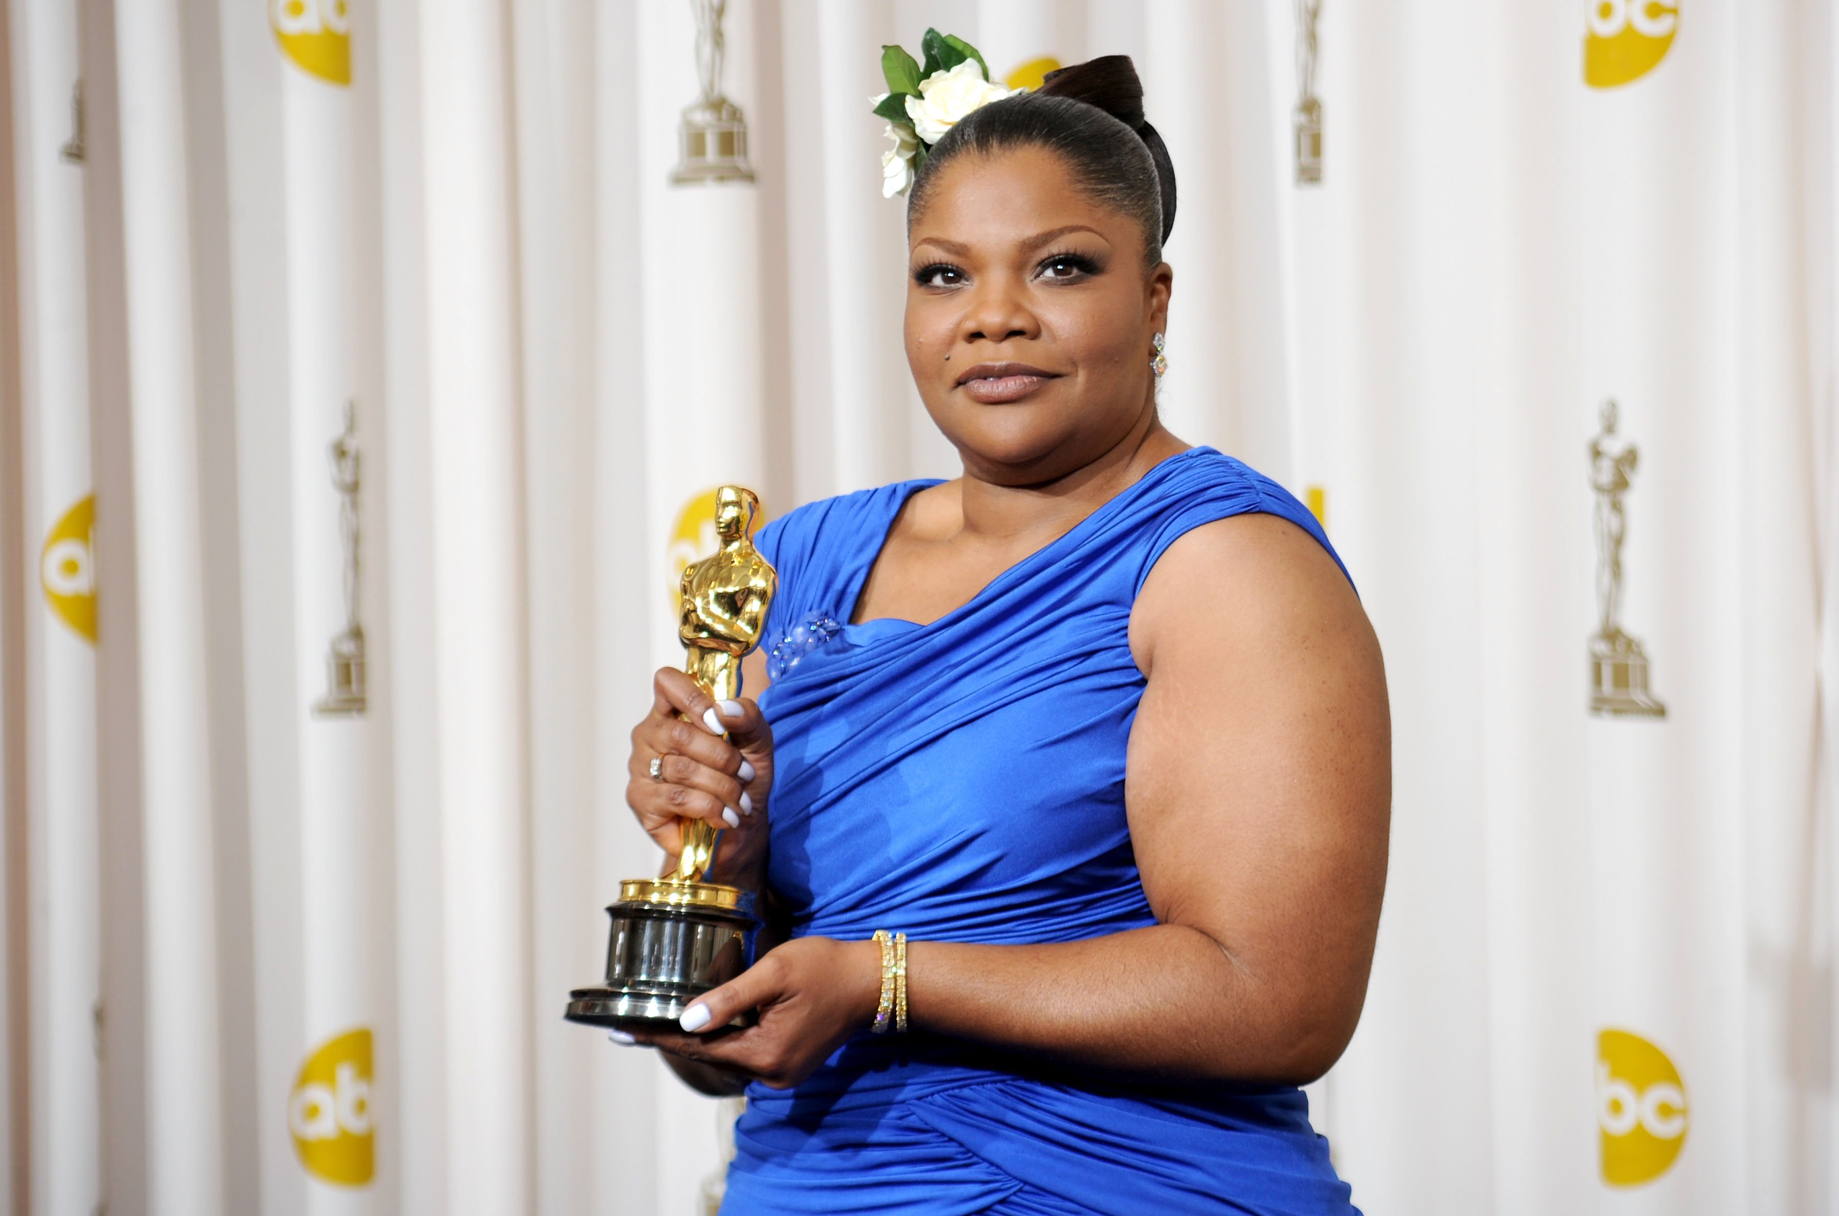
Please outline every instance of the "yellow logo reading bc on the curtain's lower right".
M1596 1130L1611 1187L1651 1183L1686 1144L1686 1084L1666 1052L1629 1030L1596 1036Z

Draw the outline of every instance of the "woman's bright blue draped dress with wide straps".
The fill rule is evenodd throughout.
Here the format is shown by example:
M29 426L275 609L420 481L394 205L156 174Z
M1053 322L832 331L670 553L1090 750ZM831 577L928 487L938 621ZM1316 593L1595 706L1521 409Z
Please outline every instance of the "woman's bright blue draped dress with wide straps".
M776 745L769 883L793 933L1019 944L1153 925L1124 819L1146 684L1131 603L1199 524L1265 511L1328 537L1276 482L1194 447L940 620L842 624L901 504L934 484L813 502L760 532L780 572L760 697ZM1096 1084L912 1032L862 1034L793 1089L752 1085L723 1212L1354 1207L1298 1089Z

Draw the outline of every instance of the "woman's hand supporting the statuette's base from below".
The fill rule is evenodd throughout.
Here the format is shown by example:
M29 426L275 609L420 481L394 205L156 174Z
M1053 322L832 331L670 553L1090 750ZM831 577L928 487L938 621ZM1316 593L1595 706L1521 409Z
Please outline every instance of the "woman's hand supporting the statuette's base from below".
M881 1003L881 946L794 938L701 997L684 1014L695 1032L622 1027L636 1041L787 1089L811 1076L846 1039L866 1030ZM728 1027L760 1010L745 1030ZM699 1019L699 1014L706 1014Z

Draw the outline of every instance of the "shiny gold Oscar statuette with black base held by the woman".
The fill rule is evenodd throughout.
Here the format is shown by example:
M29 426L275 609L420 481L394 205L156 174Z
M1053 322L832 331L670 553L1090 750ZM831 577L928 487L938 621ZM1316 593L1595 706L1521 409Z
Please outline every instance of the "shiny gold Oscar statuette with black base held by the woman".
M760 499L723 486L715 495L721 546L690 563L682 578L677 633L688 649L684 671L715 701L741 695L741 659L760 644L778 574L754 548ZM715 854L715 826L682 824L682 855L664 878L620 883L607 940L607 982L576 988L568 1021L677 1021L699 995L752 964L758 892L702 881Z

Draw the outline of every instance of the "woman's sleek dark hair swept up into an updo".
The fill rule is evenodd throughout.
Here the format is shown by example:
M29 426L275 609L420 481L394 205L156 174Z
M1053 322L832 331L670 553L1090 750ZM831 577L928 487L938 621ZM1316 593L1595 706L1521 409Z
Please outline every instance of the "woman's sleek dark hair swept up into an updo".
M1102 55L1048 72L1041 88L971 110L927 153L907 199L921 213L938 171L964 153L989 156L1043 147L1059 156L1085 195L1144 232L1144 265L1162 261L1175 228L1175 164L1144 121L1144 86L1129 55Z

